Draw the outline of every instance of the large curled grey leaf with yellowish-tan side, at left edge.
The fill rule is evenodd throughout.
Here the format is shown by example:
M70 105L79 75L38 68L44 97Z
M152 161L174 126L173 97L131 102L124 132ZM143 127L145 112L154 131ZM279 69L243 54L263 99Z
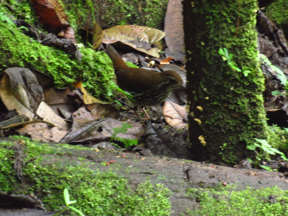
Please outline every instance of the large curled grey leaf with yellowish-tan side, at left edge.
M7 68L0 83L0 97L8 110L16 109L19 115L29 120L44 99L44 94L35 75L26 68Z

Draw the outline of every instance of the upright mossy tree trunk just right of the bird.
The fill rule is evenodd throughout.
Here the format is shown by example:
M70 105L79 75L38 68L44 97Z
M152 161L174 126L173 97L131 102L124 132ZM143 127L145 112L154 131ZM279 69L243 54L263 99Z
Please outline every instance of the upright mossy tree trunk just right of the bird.
M235 163L249 157L246 145L253 138L268 137L264 77L256 59L257 1L183 0L183 6L195 160ZM232 69L219 48L227 48L242 71Z

